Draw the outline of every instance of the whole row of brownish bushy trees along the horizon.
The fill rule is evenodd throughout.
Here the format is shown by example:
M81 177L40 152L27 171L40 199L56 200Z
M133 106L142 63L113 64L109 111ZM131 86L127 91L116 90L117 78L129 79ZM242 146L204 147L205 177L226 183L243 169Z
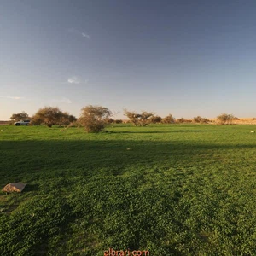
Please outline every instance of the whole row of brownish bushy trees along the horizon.
M149 124L183 124L183 123L197 123L208 124L211 123L209 119L197 116L194 119L175 119L172 114L168 114L166 117L161 118L153 112L143 111L137 113L135 111L124 110L124 115L129 119L129 122L135 126L146 126ZM10 117L11 123L16 121L30 119L30 125L47 125L52 127L53 125L70 125L70 126L83 126L88 132L100 132L106 125L111 123L122 123L123 120L112 119L113 113L102 106L86 106L81 109L80 117L77 119L70 113L62 112L57 107L44 107L39 108L38 112L32 117L26 112L13 113ZM235 118L232 114L222 113L218 115L216 121L219 125L230 125Z

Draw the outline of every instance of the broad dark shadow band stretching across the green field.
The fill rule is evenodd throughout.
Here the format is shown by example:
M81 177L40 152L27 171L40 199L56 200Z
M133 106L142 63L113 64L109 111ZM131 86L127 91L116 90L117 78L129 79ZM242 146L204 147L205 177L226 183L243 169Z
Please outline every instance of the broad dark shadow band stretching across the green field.
M247 148L255 146L189 141L2 141L0 183L51 178L55 181L49 187L58 183L61 188L65 185L62 177L122 175L152 166L203 165L205 160L208 165L213 154L225 159L227 150L236 149L232 154L237 156ZM26 187L26 191L37 189L36 185Z

